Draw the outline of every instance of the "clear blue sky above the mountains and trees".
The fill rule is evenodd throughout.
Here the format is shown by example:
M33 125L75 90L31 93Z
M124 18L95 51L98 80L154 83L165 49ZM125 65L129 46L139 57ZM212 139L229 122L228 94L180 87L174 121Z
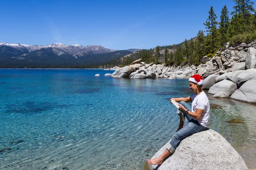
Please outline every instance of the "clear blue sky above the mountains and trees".
M224 5L233 11L233 0L1 0L0 42L149 49L195 37Z

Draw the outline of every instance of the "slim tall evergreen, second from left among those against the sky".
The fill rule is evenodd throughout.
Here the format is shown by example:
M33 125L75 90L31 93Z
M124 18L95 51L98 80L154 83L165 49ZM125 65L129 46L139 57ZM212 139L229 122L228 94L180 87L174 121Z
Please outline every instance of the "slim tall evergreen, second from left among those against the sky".
M221 36L220 44L224 45L227 42L227 30L229 26L229 11L227 10L227 6L224 6L221 10L221 21L219 22L219 32Z

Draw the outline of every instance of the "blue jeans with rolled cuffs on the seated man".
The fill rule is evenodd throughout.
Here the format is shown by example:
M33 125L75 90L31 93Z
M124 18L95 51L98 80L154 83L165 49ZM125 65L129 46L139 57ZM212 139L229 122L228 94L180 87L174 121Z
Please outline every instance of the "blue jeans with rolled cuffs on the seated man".
M181 105L184 106L187 110L191 111L191 107L186 102L180 102ZM172 136L171 141L167 144L167 150L169 152L173 153L175 149L179 146L180 142L185 139L186 137L201 132L202 130L205 130L206 127L199 124L199 122L195 119L192 119L192 117L189 114L186 114L184 111L180 111L186 116L186 118L189 120L189 122L181 128L179 131L175 132L175 134Z

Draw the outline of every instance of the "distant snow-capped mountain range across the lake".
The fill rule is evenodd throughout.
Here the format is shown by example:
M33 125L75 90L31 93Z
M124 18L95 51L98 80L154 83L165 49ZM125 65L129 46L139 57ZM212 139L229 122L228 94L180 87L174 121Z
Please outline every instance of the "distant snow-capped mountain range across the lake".
M97 68L138 48L114 50L101 45L9 44L0 42L0 68Z

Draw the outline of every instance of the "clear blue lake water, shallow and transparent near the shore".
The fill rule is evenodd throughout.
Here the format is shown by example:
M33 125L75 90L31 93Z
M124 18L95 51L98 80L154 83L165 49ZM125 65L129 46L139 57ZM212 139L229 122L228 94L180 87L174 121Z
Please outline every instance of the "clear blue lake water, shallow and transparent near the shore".
M171 97L187 79L113 79L103 70L0 70L0 169L137 169L169 141ZM100 74L100 77L95 77ZM213 99L209 128L241 148L256 142L255 105ZM243 119L243 124L229 124ZM57 169L58 169L57 168Z

